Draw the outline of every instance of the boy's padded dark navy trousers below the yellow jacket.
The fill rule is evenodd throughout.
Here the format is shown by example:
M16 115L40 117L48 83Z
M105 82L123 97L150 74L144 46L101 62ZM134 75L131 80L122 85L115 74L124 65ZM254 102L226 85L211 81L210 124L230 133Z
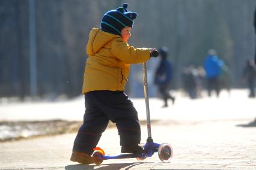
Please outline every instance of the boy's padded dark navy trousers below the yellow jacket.
M108 122L116 123L120 145L139 144L138 113L124 92L100 90L85 93L84 123L78 130L73 151L92 154Z

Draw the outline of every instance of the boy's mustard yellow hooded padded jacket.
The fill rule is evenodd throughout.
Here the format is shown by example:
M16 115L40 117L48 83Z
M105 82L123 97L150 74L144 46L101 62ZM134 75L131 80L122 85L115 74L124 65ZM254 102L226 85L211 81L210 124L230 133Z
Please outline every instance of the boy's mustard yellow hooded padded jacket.
M135 48L119 35L93 28L87 43L87 65L82 93L94 90L123 91L129 76L130 63L150 59L148 48Z

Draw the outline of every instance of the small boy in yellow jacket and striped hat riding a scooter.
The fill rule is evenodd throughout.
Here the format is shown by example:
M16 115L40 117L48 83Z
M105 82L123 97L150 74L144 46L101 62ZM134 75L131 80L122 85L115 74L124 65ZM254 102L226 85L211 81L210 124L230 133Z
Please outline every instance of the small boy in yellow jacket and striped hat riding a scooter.
M127 44L137 14L127 11L127 4L106 13L101 30L93 28L87 43L85 66L84 123L78 131L70 160L94 163L91 154L109 120L116 123L121 153L142 153L138 113L124 93L130 63L147 62L152 48L135 48Z

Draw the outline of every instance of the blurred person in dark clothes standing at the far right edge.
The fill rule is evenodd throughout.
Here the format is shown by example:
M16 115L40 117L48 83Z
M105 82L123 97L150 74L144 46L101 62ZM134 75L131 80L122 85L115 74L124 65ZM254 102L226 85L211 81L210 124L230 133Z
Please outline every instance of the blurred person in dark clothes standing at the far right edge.
M249 88L249 98L255 98L255 78L256 71L253 60L247 60L246 66L243 69L243 82Z

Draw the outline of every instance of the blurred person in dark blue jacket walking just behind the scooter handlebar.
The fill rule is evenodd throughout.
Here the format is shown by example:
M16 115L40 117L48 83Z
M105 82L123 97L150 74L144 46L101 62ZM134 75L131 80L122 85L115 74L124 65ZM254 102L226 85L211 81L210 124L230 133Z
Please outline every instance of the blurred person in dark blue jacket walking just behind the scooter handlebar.
M172 100L172 104L174 104L175 101L175 98L169 94L169 84L171 83L172 78L172 65L167 59L168 48L161 47L159 49L159 56L161 57L161 60L154 75L154 83L157 85L159 93L163 98L163 107L168 107L168 99Z

